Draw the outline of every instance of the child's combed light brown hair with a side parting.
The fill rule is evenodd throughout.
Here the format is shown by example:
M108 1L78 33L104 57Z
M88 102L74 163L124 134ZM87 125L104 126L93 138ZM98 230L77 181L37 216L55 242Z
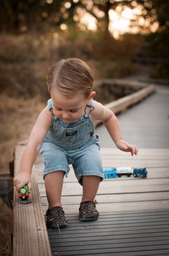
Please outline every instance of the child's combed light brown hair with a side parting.
M88 98L93 89L93 80L89 66L77 58L58 61L51 66L47 76L49 93L51 89L57 88L68 97L83 93Z

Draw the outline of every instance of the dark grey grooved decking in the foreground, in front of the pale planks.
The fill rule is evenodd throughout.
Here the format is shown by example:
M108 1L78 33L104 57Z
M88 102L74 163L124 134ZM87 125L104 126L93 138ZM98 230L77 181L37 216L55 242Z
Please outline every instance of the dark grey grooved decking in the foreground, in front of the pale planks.
M53 255L66 256L111 254L121 256L121 253L147 255L147 252L153 252L150 255L161 255L161 251L167 254L168 212L169 209L137 210L126 213L104 212L100 214L99 220L88 223L80 222L78 215L66 215L69 221L68 227L61 229L61 234L57 230L49 232L51 251Z

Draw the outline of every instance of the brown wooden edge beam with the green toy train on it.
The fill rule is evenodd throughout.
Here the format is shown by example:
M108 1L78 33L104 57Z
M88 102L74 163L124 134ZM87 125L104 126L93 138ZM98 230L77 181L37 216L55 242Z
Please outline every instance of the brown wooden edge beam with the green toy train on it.
M21 155L24 146L15 148L15 173L19 172ZM14 188L14 230L13 230L13 255L14 256L50 256L48 233L40 201L38 182L35 168L32 170L31 204L19 204L18 193Z

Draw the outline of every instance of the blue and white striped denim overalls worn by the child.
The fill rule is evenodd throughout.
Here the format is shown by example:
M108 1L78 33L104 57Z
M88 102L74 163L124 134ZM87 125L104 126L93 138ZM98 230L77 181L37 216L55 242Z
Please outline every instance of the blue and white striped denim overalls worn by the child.
M93 99L87 105L93 108ZM51 99L48 107L53 109ZM94 124L89 114L84 113L78 120L68 124L53 116L52 124L40 149L45 167L43 177L54 171L65 171L67 177L72 164L80 185L84 175L104 178L100 157L99 136L94 134Z

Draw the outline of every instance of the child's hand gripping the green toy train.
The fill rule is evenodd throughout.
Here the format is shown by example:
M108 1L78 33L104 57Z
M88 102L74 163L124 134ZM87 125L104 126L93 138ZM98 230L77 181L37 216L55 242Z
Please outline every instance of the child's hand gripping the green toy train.
M28 172L20 172L13 180L14 186L16 187L16 190L18 191L18 194L20 192L20 188L24 185L28 185L29 193L32 189L32 182L31 182L31 175Z

